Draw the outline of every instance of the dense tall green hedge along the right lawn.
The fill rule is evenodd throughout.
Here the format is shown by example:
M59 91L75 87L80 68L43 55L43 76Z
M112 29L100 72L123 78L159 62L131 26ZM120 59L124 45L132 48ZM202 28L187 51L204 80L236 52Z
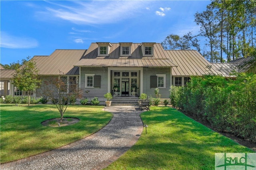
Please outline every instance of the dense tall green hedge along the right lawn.
M208 121L214 128L256 142L256 75L234 80L220 75L193 76L187 87L171 87L171 103Z

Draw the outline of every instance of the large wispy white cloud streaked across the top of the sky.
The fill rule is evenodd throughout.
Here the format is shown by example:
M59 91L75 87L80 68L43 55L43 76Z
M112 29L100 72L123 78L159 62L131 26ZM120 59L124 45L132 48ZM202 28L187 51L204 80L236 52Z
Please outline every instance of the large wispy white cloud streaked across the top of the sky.
M76 24L106 24L135 17L141 12L145 2L142 1L72 1L73 5L61 5L50 2L57 7L47 7L40 12L51 17L61 18ZM145 7L143 7L145 8ZM142 13L142 12L141 12Z

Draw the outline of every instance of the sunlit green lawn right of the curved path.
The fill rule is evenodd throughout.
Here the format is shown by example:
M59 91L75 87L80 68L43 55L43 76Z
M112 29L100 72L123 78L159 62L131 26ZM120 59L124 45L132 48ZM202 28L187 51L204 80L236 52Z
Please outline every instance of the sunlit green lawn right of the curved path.
M141 118L147 134L107 170L212 170L215 153L254 152L170 107L150 107Z

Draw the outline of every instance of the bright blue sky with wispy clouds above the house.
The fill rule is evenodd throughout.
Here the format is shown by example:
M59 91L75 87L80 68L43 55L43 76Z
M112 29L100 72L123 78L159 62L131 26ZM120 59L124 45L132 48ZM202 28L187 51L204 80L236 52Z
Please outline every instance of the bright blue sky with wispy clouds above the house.
M157 42L200 27L210 1L0 1L1 64L92 42Z

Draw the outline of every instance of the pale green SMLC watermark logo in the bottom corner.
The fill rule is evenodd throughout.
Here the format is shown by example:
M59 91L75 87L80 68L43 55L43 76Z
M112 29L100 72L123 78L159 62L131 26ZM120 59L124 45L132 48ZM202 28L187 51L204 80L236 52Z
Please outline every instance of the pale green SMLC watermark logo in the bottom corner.
M215 170L256 170L256 153L215 153Z

